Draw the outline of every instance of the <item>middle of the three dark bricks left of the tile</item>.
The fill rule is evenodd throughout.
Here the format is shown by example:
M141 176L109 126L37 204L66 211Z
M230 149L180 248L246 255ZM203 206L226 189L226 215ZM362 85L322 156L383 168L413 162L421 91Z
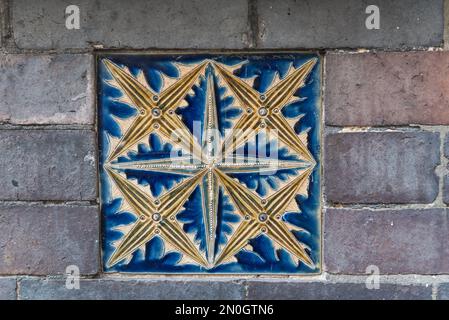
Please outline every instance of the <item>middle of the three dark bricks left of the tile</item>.
M0 200L94 200L95 134L0 130Z

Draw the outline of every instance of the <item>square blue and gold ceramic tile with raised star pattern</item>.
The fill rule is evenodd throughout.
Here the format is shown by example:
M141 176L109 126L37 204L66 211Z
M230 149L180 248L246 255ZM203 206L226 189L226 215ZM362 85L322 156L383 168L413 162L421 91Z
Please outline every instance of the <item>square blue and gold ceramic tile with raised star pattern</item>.
M320 61L98 61L109 272L320 270Z

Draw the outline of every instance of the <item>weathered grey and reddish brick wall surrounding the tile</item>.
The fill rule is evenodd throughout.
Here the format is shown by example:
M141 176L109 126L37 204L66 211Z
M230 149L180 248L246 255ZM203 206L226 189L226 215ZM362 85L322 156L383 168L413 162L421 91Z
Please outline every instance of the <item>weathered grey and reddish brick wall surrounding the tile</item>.
M0 0L0 298L448 299L443 2ZM80 30L65 28L69 4ZM365 28L369 4L380 30ZM94 61L107 49L320 50L322 275L102 274Z

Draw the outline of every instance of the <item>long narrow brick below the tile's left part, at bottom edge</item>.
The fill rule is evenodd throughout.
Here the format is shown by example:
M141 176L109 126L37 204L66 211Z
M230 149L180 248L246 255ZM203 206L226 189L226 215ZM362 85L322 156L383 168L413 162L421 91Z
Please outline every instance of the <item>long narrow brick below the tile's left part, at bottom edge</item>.
M95 279L81 280L79 290L67 290L64 280L23 279L19 298L88 300L242 300L243 285L232 280Z

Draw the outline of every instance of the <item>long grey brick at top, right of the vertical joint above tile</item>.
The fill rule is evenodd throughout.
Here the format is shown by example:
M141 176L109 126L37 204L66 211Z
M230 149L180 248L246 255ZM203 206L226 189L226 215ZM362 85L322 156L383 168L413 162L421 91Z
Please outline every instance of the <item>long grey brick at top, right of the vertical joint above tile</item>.
M368 0L259 0L264 48L413 48L441 46L443 0L377 0L380 29L368 30Z

